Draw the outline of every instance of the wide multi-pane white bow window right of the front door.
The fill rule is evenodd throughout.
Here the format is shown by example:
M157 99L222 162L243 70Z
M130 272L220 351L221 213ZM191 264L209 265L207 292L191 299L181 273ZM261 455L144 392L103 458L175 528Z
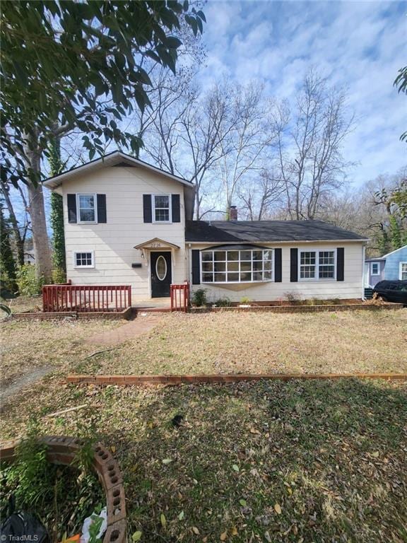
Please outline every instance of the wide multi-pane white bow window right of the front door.
M256 283L273 279L273 250L201 252L203 283Z

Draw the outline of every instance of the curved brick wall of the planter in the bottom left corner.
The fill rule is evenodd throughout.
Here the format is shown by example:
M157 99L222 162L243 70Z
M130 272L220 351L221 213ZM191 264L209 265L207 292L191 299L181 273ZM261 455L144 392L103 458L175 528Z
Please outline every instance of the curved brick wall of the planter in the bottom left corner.
M43 436L47 445L47 460L54 464L70 465L83 445L81 438L67 436ZM19 440L0 444L0 460L13 462ZM107 503L107 530L103 543L126 543L126 502L123 478L119 465L102 443L94 446L93 467L105 490Z

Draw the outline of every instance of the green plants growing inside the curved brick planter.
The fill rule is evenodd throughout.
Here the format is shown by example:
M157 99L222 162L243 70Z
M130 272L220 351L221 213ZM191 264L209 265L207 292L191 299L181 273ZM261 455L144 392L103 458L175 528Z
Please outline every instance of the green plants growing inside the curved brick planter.
M89 436L94 435L93 428L87 430ZM84 446L71 465L61 466L48 462L47 447L39 435L37 419L30 419L27 436L16 448L15 461L1 470L0 508L4 510L8 498L14 496L18 509L37 515L57 542L64 532L78 532L83 519L102 508L102 487L90 470L91 439L84 438Z

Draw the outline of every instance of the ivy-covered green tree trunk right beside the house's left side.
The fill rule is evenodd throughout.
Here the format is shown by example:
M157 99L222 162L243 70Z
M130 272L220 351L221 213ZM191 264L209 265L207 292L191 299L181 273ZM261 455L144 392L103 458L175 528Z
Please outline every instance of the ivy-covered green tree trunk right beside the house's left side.
M58 175L62 170L61 146L59 139L52 140L49 148L49 166L51 175ZM64 236L64 206L62 204L61 194L52 192L51 194L51 227L54 233L54 253L52 262L54 264L57 281L66 277L66 257L65 257L65 236Z

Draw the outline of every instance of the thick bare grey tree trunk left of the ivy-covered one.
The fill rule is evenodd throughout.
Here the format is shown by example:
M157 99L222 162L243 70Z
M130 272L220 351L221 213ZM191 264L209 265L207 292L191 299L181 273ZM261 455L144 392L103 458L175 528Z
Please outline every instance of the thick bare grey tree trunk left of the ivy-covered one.
M38 174L38 179L40 179L40 151L27 148L25 154L30 160L30 168ZM31 226L33 228L35 271L37 277L44 277L45 282L49 283L52 281L52 261L51 251L49 250L47 221L45 219L44 194L40 181L37 186L34 186L32 182L28 185L28 201Z

